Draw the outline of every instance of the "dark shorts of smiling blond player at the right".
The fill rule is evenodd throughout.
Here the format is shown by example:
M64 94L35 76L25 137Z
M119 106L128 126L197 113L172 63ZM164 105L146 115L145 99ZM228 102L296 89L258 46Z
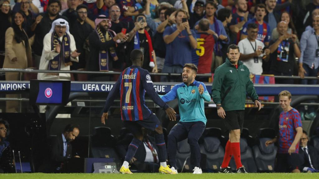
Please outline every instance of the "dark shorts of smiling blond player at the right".
M275 171L280 173L291 172L299 169L301 165L300 156L297 153L280 154L277 153L275 162Z

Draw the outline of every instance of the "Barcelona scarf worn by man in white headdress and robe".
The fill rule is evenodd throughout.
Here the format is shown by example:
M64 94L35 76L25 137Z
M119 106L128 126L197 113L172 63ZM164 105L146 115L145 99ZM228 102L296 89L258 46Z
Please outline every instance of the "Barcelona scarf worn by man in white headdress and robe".
M70 37L65 33L62 37L62 42L59 39L59 36L56 32L53 32L51 35L51 50L56 50L56 46L60 46L60 54L56 55L52 60L49 61L48 70L60 70L61 61L64 62L65 66L72 65L70 61ZM56 74L52 74L56 75Z

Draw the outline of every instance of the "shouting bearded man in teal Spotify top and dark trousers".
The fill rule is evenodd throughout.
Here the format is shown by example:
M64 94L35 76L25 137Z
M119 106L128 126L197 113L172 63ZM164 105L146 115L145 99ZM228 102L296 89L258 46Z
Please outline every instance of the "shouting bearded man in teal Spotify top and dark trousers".
M176 99L181 119L168 134L167 153L172 171L176 170L177 142L188 138L191 150L191 164L194 166L193 174L201 174L200 148L198 139L204 132L207 119L204 112L204 101L210 101L211 97L202 82L195 81L197 67L186 63L183 68L183 83L176 84L166 95L161 96L164 102Z

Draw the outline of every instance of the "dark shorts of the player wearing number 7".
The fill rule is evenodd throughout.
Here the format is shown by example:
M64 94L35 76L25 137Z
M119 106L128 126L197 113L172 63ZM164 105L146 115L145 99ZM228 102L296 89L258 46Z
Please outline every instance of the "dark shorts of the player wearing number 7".
M142 127L154 131L160 125L160 122L156 115L152 113L151 116L143 120L123 121L123 125L130 129L132 134L135 134L140 133Z

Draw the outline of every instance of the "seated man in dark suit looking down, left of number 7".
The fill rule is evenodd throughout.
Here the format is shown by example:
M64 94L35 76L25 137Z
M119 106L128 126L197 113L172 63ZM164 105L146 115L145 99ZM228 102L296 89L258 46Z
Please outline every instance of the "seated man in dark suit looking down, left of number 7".
M39 169L43 173L63 173L65 162L67 162L72 155L72 145L70 142L75 140L80 133L77 125L68 124L65 126L61 135L56 136L50 145L49 159L44 161L44 165ZM79 156L74 156L79 157Z

